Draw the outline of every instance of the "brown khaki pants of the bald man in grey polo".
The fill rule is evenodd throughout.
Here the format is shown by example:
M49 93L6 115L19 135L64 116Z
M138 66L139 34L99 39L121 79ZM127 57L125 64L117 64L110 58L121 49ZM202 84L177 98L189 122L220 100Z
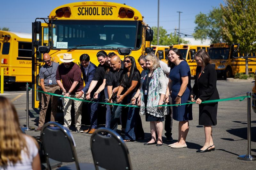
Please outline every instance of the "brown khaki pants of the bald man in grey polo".
M45 86L45 90L50 93L60 94L60 87L57 85L55 87L47 87ZM49 106L49 101L52 101L52 111L51 111L51 122L55 121L55 116L57 113L57 105L58 105L58 96L45 95L42 93L42 101L41 101L41 110L39 112L39 124L38 126L43 127L45 122L45 115L47 108Z

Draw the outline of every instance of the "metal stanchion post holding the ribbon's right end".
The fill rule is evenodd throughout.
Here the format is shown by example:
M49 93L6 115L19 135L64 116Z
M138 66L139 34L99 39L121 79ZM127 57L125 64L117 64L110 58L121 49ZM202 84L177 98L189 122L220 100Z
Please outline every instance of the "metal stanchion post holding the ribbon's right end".
M239 155L241 160L256 160L255 155L251 155L251 92L247 92L247 154Z

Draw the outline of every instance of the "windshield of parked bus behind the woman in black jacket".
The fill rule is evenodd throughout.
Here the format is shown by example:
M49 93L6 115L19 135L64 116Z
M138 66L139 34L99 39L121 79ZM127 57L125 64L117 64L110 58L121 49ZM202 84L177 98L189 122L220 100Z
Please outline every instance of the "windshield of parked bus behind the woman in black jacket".
M208 54L211 59L228 59L229 48L209 48Z

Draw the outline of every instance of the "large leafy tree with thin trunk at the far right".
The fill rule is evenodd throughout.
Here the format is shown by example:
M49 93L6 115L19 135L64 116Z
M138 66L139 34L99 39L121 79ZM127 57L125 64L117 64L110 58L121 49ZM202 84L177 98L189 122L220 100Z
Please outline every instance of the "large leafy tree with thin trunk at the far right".
M223 40L229 44L239 43L240 53L248 54L256 49L256 0L225 0L220 4L223 12ZM248 75L248 60L245 62Z

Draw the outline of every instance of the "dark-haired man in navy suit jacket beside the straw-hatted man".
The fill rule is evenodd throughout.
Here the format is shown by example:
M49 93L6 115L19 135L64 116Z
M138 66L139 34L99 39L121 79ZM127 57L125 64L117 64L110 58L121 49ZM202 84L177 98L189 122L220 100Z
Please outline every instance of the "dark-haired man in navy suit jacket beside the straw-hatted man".
M80 69L82 71L83 80L85 83L84 88L77 92L77 98L82 96L84 93L86 93L90 87L90 84L92 82L92 79L94 77L95 70L97 66L90 62L90 56L88 54L82 54L80 56ZM93 93L92 93L93 94ZM93 98L93 96L91 96ZM97 113L95 112L97 110L97 106L94 106L95 103L88 103L87 108L88 112L91 114L91 128L96 129L97 128ZM95 108L96 107L96 108Z

